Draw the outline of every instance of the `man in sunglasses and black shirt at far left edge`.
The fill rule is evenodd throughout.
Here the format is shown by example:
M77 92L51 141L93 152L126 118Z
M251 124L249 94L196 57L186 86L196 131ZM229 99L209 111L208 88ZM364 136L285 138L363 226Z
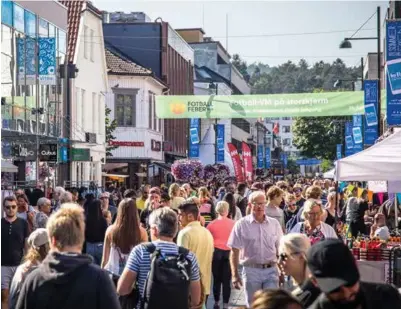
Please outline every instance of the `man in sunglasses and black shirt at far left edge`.
M17 199L7 196L3 201L4 218L1 219L1 308L8 308L11 280L21 263L26 239L29 234L28 222L17 216Z

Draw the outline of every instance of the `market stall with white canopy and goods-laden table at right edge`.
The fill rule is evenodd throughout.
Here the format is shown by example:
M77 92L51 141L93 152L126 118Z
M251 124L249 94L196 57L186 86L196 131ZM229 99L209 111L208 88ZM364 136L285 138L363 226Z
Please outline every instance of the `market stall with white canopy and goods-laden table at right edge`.
M398 131L364 151L338 160L336 180L398 183L401 180L400 154L401 131ZM398 220L397 198L394 208L395 218ZM390 238L387 243L369 238L352 240L350 248L357 260L362 280L401 286L399 237Z

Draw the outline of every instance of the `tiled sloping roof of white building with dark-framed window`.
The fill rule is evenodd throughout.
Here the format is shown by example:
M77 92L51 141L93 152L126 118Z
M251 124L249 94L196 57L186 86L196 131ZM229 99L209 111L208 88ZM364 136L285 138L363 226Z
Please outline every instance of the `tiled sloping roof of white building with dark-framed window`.
M106 46L107 71L111 74L152 75L152 71L136 64L130 58L119 53L116 48Z

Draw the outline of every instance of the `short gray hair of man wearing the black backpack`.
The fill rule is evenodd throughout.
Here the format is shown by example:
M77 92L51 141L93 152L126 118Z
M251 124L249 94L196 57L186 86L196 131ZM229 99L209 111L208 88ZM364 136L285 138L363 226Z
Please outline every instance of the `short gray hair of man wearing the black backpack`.
M178 216L168 207L159 208L150 214L149 225L156 226L159 236L174 238L178 231Z

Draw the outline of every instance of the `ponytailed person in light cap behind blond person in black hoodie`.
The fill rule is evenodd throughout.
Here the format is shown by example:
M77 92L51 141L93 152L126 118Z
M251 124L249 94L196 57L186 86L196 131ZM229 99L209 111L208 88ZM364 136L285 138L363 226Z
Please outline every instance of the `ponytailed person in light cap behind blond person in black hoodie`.
M10 286L9 309L14 309L18 296L28 274L38 267L49 252L49 237L47 230L38 228L28 237L28 252L24 263L17 267Z

